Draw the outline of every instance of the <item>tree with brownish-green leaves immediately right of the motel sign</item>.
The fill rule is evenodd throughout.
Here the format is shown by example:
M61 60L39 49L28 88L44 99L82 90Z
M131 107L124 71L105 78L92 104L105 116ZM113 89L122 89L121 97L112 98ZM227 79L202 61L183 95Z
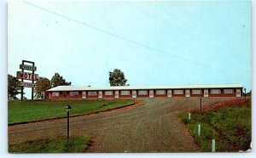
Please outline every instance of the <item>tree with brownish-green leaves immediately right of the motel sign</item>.
M37 82L37 87L35 88L36 98L41 98L41 93L45 92L50 88L50 81L48 78L39 77Z

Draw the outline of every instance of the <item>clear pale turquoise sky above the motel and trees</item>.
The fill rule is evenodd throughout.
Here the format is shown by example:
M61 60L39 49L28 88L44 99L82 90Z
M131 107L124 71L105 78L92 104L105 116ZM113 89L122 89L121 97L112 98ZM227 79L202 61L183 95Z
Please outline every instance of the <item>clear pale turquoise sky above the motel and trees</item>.
M240 83L252 88L250 1L10 1L8 73L22 59L39 76L109 86ZM31 88L26 88L30 98Z

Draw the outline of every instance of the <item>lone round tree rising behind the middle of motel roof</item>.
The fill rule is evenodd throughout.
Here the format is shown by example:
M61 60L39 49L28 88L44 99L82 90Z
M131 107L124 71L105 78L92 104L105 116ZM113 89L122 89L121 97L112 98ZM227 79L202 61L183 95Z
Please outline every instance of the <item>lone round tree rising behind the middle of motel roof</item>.
M113 72L109 72L110 86L125 86L126 82L124 72L119 69L114 69Z

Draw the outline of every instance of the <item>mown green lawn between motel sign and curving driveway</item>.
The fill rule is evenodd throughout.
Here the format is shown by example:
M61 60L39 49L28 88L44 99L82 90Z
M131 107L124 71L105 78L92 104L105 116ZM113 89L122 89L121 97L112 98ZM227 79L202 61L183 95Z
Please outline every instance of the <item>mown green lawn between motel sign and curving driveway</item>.
M9 124L27 121L38 121L67 116L65 106L71 104L70 116L111 110L133 104L133 100L65 100L65 101L9 101Z

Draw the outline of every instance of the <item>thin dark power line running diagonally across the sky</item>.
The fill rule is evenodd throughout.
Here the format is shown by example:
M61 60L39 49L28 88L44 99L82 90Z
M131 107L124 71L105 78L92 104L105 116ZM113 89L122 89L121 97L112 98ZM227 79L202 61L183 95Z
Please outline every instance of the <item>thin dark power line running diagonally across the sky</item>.
M200 66L203 66L203 67L207 67L207 68L210 68L210 69L213 69L213 70L225 71L225 72L229 72L229 71L230 71L230 70L224 70L224 69L219 69L219 68L212 67L212 66L209 66L209 65L205 65L205 64L202 64L202 63L199 63L199 62L190 60L190 59L185 59L185 58L179 57L179 56L174 55L174 54L169 54L169 53L167 53L166 51L163 51L163 50L161 50L161 49L159 49L159 48L153 48L153 47L150 47L150 46L148 46L148 45L146 45L146 44L143 44L143 43L141 43L141 42L136 42L136 41L133 41L133 40L128 39L128 38L126 38L126 37L121 37L121 36L119 36L119 35L113 34L112 32L105 31L105 30L102 30L102 29L100 29L100 28L97 28L97 27L95 27L95 26L93 26L93 25L88 25L88 24L86 24L86 23L84 23L84 22L81 22L81 21L79 21L79 20L74 20L74 19L72 19L72 18L69 18L69 17L63 15L63 14L58 14L58 13L55 13L55 12L49 10L49 9L39 7L38 5L35 5L35 4L32 4L32 3L28 3L28 2L26 2L26 1L23 1L23 3L26 3L26 4L28 4L28 5L31 5L31 6L35 7L35 8L39 8L39 9L41 9L41 10L44 10L45 12L48 12L48 13L50 13L50 14L55 14L55 15L57 15L57 16L60 16L60 17L64 18L64 19L73 21L73 22L75 22L75 23L77 23L77 24L79 24L79 25L84 25L84 26L89 27L89 28L91 28L91 29L93 29L93 30L100 31L100 32L102 32L102 33L108 34L109 36L116 37L116 38L119 38L119 39L121 39L121 40L134 43L134 44L136 44L136 45L138 45L138 46L141 46L141 47L143 47L143 48L148 48L148 49L150 49L150 50L159 52L160 54L169 55L169 56L171 56L172 58L175 58L175 59L180 59L180 60L183 60L183 61L187 61L187 62L189 62L189 63L195 64L195 65L200 65Z

